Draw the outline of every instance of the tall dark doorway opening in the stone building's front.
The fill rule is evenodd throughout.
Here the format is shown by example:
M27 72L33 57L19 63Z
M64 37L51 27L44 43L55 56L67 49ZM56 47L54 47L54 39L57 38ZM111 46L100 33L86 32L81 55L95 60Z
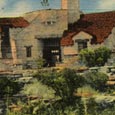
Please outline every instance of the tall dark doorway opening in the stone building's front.
M43 40L43 58L46 60L44 66L55 66L61 62L60 39L44 39Z

